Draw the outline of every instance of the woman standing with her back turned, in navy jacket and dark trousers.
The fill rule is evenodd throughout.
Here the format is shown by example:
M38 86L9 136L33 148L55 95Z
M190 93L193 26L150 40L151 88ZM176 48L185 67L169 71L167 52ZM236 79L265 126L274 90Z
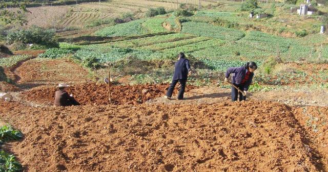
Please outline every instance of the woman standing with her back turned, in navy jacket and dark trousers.
M185 58L185 54L179 53L178 61L175 63L174 75L172 79L172 83L166 93L165 98L169 99L172 96L175 85L180 82L180 90L178 93L178 100L183 99L183 93L185 93L186 82L188 78L188 74L191 73L191 68L189 64L189 60Z

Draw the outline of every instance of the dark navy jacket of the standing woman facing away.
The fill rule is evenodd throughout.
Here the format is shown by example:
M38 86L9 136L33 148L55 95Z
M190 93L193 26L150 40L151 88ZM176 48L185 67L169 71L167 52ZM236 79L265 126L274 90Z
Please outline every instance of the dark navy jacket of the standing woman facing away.
M180 58L175 62L173 80L187 80L189 70L191 70L189 60Z

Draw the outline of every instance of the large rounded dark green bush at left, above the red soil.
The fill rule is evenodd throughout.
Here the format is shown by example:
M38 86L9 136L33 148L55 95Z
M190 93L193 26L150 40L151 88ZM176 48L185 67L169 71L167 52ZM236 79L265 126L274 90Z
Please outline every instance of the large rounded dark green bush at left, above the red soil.
M32 26L29 29L20 29L10 31L7 35L8 43L14 42L34 43L47 45L49 47L57 47L55 32L53 29L43 29L37 26Z

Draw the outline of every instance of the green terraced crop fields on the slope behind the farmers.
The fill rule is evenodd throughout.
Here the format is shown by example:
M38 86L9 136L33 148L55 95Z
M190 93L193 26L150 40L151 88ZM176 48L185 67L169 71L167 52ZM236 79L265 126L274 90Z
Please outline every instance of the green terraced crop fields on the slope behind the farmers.
M225 17L236 19L231 12L198 11L195 18ZM187 18L187 20L185 20ZM97 31L101 36L131 36L145 33L166 32L163 22L175 24L174 14L171 16L157 16L139 19L128 23L118 24ZM211 22L195 22L188 17L180 18L182 30L180 33L168 33L139 39L114 41L106 44L84 45L75 47L75 50L60 44L59 49L49 50L44 56L51 57L52 51L69 52L73 57L82 61L96 61L98 63L114 62L122 58L139 58L142 60L171 60L179 52L193 56L215 70L226 70L229 66L237 66L245 61L261 63L268 57L280 56L288 61L297 61L303 58L316 59L328 57L328 46L320 45L326 41L322 35L313 38L284 38L258 31L244 32L238 29L214 26ZM202 18L201 18L202 19ZM308 43L306 43L308 40ZM63 51L63 49L65 51ZM47 55L49 53L50 55ZM43 57L43 55L41 55Z

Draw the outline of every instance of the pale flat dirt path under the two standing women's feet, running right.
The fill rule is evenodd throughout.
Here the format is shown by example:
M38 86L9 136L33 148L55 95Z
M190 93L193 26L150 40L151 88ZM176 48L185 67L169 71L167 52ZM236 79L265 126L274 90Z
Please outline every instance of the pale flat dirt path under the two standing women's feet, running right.
M327 106L328 91L321 89L312 91L280 89L249 93L247 97L248 100L281 102L290 106ZM159 97L150 103L213 104L229 100L231 100L230 89L202 87L187 92L184 101L167 100Z

